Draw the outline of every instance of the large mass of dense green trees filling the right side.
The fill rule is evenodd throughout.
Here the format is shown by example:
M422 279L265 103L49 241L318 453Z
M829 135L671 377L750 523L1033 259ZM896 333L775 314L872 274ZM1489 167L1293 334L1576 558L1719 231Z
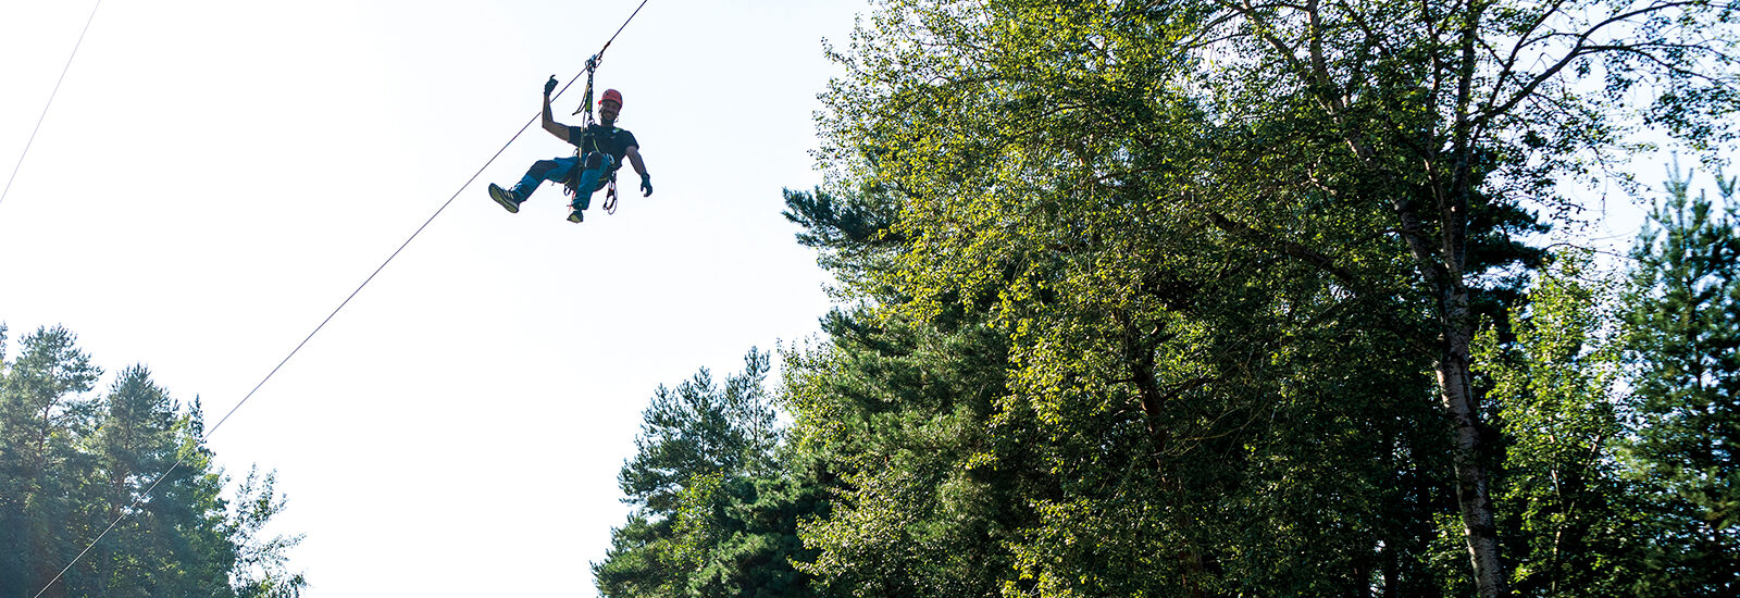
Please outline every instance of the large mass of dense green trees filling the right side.
M842 302L748 471L821 499L767 528L800 541L776 567L828 596L1731 595L1733 221L1665 209L1623 294L1529 243L1637 118L1730 139L1733 17L879 2L833 49L830 181L786 193ZM733 495L712 475L686 495ZM661 574L746 595L691 570Z

